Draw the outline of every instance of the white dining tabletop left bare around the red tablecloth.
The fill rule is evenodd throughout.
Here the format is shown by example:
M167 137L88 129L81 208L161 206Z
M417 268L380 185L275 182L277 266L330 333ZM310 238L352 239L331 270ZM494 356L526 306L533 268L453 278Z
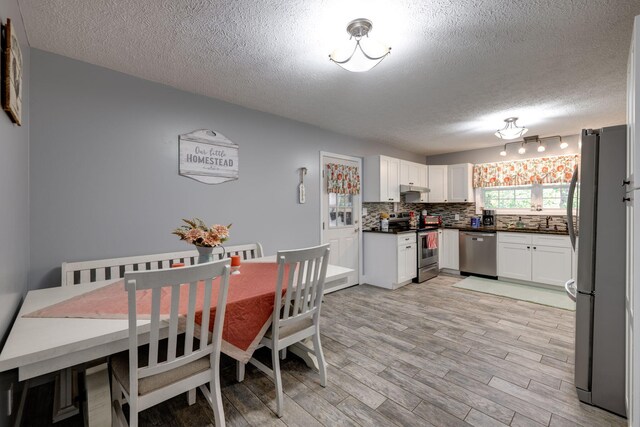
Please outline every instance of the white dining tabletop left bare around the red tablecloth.
M275 256L245 262L274 262ZM325 282L344 280L351 269L329 265ZM19 369L20 381L127 350L128 320L27 318L24 314L98 289L117 280L30 291L0 353L0 372ZM138 322L147 332L148 320ZM141 338L144 342L144 338Z

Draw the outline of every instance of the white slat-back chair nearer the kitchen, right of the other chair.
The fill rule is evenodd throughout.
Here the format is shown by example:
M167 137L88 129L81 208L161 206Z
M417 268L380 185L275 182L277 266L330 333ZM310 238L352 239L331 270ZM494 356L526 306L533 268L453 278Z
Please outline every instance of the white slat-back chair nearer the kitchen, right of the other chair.
M329 244L306 249L279 251L278 283L273 323L260 342L271 349L272 368L251 358L249 363L269 375L276 386L276 414L282 417L282 378L278 353L291 344L311 338L318 359L320 385L327 385L327 368L320 344L320 305L329 263ZM288 274L287 274L288 266ZM282 296L282 288L287 290ZM306 348L306 347L305 347ZM309 349L309 352L312 350ZM245 365L238 362L238 380L244 378Z

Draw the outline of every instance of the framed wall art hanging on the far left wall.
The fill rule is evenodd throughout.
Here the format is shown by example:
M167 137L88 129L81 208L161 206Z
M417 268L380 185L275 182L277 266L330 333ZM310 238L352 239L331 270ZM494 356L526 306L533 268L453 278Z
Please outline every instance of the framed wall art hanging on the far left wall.
M22 52L11 19L4 26L2 108L11 121L22 124Z

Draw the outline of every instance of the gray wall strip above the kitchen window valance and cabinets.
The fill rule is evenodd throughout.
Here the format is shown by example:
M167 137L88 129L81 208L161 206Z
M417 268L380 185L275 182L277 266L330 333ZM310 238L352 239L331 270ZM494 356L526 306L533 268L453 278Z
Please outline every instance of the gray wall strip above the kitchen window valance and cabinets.
M577 131L579 131L579 129L577 129ZM547 149L544 153L538 153L536 151L537 146L535 144L528 144L526 147L527 152L523 155L520 155L518 154L518 145L510 144L510 146L507 148L507 155L503 157L500 155L503 144L500 144L490 148L479 148L477 150L459 151L457 153L428 156L427 164L455 165L458 163L491 163L503 162L506 160L532 159L545 156L561 156L567 154L576 154L580 152L580 149L578 148L579 135L563 135L562 140L569 143L569 146L564 150L560 149L560 143L557 139L545 141Z

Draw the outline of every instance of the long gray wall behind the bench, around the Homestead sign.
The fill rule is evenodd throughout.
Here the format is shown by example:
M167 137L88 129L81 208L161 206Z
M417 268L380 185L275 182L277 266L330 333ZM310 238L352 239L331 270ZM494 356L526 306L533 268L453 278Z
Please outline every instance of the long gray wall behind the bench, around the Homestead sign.
M32 63L31 288L59 284L63 261L187 250L170 234L186 217L233 223L229 245L258 240L268 254L317 244L321 150L424 162L36 49ZM238 181L178 175L178 134L200 128L239 144Z

